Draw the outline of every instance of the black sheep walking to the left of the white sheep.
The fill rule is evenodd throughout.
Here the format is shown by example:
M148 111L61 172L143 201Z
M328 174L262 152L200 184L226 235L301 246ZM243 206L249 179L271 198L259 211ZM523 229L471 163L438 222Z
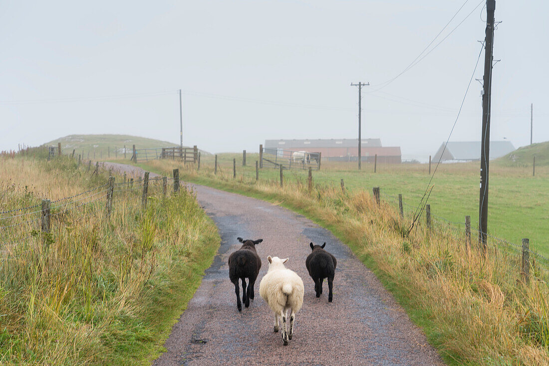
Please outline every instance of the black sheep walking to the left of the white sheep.
M234 284L234 292L237 294L237 308L242 311L242 302L240 302L240 294L238 288L238 279L242 280L242 301L244 306L250 306L250 299L254 300L254 284L261 268L261 258L257 255L255 245L261 243L263 239L244 240L237 238L242 244L239 250L233 252L229 256L229 278ZM248 281L248 289L246 289L246 278Z

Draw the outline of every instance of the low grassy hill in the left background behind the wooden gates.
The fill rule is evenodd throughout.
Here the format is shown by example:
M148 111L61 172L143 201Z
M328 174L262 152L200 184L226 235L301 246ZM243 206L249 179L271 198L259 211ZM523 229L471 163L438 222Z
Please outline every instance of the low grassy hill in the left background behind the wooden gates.
M57 146L59 142L64 154L72 153L72 149L76 150L75 154L82 154L83 150L86 158L92 158L94 153L97 158L124 157L124 146L126 146L128 159L131 156L132 145L136 145L137 149L178 146L167 141L120 134L74 134L52 140L44 145Z

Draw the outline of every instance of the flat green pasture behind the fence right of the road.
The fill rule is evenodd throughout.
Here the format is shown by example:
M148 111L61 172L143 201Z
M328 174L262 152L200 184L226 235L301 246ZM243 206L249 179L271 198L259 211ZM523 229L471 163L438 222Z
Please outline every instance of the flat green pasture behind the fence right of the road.
M536 144L542 145L542 144ZM536 147L539 149L539 146ZM526 150L526 159L529 159ZM247 166L242 166L242 154L219 154L219 174L232 177L233 159L236 159L237 179L255 179L255 161L259 154L247 154ZM537 163L537 162L536 162ZM507 166L505 160L493 161L490 165L489 192L489 234L520 244L522 238L530 239L530 247L549 256L549 168L537 166L532 176L531 165ZM382 199L398 205L402 194L405 210L415 210L428 187L430 176L427 164L378 164L376 173L373 164L363 164L358 171L356 163L322 163L320 171L313 171L316 184L339 187L343 178L346 189L380 187ZM213 171L214 156L201 157L201 170ZM432 165L434 172L435 164ZM284 170L284 179L306 182L307 171ZM260 179L279 181L279 170L264 167ZM431 182L433 190L429 196L431 212L435 219L445 218L464 223L465 216L471 217L472 227L478 226L479 163L441 164ZM445 221L438 219L441 223ZM458 228L462 224L454 225Z

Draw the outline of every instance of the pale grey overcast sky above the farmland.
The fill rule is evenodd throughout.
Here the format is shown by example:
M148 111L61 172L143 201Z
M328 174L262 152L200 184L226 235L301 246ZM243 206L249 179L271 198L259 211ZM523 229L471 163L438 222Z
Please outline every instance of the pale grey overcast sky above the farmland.
M384 82L464 1L0 0L0 150L80 133L178 144L178 89L183 143L213 153L356 138L350 83L362 81L362 137L434 155L473 75L484 2L469 0L421 57L432 52ZM546 1L496 1L492 140L529 144L530 103L534 142L549 140L547 14ZM484 52L475 78L483 63ZM473 80L451 140L480 140L480 91Z

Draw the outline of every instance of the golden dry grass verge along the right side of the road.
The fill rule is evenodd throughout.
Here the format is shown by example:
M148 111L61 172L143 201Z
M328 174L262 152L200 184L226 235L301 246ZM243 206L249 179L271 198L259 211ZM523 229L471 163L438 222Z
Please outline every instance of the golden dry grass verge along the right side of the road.
M547 271L534 264L523 283L516 252L490 243L484 259L466 250L464 233L443 223L429 230L419 222L408 231L410 215L401 219L388 203L378 206L363 190L342 192L337 183L309 192L299 179L281 188L173 161L148 166L166 174L179 167L182 179L270 199L320 221L382 278L449 363L549 364Z

